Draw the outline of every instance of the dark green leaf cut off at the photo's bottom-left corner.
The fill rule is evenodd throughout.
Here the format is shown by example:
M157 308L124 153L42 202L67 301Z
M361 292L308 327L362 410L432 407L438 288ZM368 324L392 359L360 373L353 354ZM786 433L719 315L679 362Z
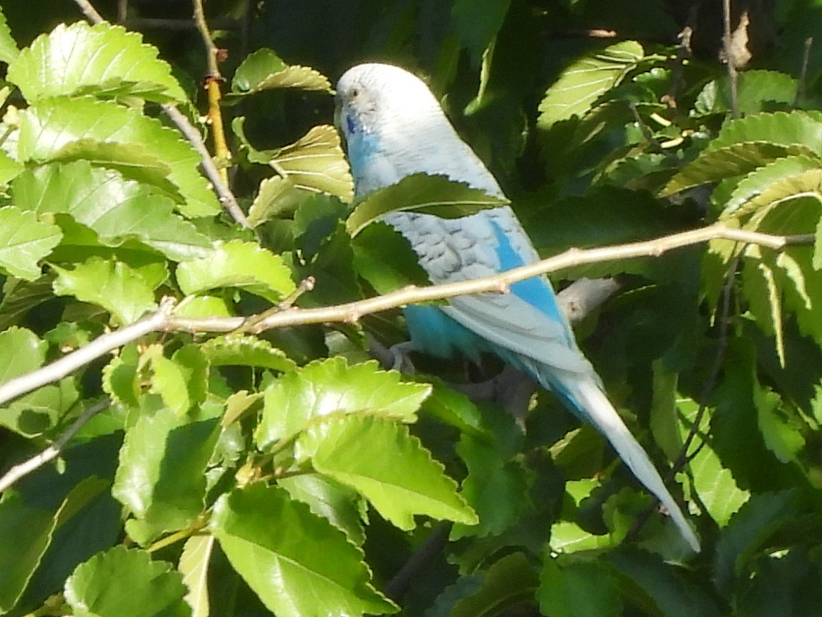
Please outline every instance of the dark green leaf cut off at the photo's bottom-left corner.
M12 610L40 563L57 519L7 491L0 500L0 612Z

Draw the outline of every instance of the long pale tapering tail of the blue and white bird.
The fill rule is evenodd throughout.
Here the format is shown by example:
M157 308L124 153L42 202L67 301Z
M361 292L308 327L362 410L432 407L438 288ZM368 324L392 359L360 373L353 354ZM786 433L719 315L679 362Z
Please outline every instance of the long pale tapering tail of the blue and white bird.
M570 384L563 385L567 387ZM636 479L640 480L645 488L649 489L665 506L682 537L693 550L699 552L700 540L691 530L679 505L668 492L648 454L630 434L628 427L598 384L593 380L580 380L573 387L566 389L566 396L580 407L580 411L583 411L591 424L611 442L614 450L633 472Z

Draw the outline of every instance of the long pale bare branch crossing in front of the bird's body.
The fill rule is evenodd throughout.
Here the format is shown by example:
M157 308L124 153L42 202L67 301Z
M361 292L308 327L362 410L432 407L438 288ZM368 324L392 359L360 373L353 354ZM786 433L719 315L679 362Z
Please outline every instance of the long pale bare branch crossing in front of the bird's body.
M357 322L364 315L379 313L390 308L399 308L407 304L420 304L453 298L458 295L479 293L506 293L510 285L538 276L584 264L612 262L630 257L658 257L674 248L708 242L709 240L726 239L742 244L759 244L766 248L782 250L788 246L809 245L814 242L814 234L772 235L755 231L739 230L727 227L723 223L714 223L697 230L684 231L679 234L663 236L658 239L618 244L603 248L571 248L565 253L549 257L543 261L502 272L495 276L480 279L431 285L429 287L406 287L390 294L376 296L357 302L337 304L321 308L287 308L279 313L267 316L255 322L249 331L253 333L272 330L280 327L303 326L312 323ZM131 326L104 334L72 353L63 356L52 364L44 366L27 375L14 378L0 385L0 405L31 392L48 383L56 382L72 371L89 364L92 360L136 341L150 332L233 332L250 318L181 318L173 315L174 299L165 299L159 310L150 313Z

